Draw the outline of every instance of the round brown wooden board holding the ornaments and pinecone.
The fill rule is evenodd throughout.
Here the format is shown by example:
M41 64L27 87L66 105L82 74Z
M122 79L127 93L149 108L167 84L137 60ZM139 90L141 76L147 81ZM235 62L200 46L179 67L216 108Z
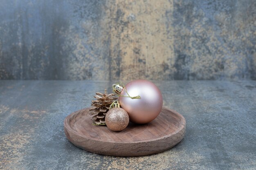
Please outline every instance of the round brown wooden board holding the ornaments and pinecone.
M92 125L89 108L76 111L64 120L66 137L84 150L111 156L143 156L168 150L184 137L186 121L182 115L162 108L159 116L148 124L133 124L121 132L107 126Z

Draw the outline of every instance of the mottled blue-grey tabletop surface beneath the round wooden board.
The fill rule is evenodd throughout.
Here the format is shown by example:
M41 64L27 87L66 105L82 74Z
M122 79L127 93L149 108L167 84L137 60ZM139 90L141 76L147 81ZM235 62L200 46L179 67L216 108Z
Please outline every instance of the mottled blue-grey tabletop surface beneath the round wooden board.
M155 155L111 157L74 146L63 121L115 82L0 80L0 169L256 169L256 81L153 82L185 117L184 139Z

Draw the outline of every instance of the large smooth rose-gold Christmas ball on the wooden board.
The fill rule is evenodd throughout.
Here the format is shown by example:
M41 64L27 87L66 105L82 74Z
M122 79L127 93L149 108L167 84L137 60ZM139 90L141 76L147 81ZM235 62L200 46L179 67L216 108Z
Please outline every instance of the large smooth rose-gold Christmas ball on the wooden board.
M138 79L125 85L130 96L140 95L140 99L118 97L121 108L126 110L130 121L136 124L146 124L153 121L161 112L163 97L155 84L145 79ZM125 89L120 95L127 96Z

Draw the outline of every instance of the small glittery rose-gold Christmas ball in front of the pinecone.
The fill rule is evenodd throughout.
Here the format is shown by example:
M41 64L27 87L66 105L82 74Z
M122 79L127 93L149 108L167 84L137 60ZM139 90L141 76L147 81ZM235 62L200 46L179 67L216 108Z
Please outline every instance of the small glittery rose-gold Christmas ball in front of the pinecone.
M106 114L105 121L110 130L121 131L128 126L129 115L122 108L112 108Z

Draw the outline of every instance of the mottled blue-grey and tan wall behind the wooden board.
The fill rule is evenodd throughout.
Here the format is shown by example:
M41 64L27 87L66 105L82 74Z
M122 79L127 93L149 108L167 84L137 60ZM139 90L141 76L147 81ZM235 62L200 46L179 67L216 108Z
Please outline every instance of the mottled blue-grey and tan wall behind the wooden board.
M256 79L255 0L1 0L0 79Z

